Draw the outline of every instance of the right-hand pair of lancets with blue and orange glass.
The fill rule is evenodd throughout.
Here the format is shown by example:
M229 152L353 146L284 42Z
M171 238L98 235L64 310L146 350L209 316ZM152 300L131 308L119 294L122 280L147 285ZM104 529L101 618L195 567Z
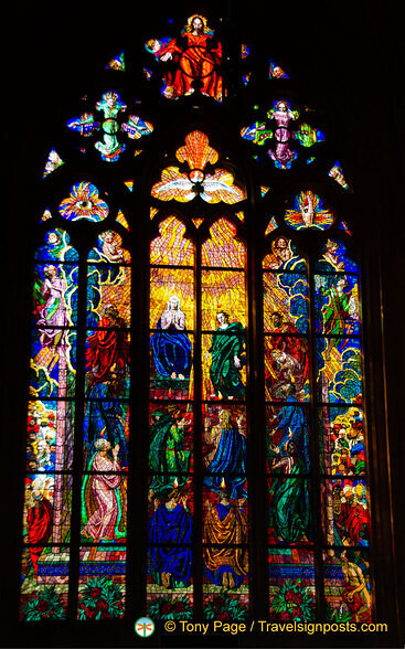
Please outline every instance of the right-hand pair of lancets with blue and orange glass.
M273 234L263 262L270 614L285 621L372 615L360 270L332 234L302 256Z

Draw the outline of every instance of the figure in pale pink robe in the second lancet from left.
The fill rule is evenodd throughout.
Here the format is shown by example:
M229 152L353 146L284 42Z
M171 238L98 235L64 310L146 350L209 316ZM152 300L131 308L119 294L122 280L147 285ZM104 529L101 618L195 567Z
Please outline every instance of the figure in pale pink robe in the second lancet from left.
M95 541L116 541L125 536L125 486L119 474L107 471L120 470L119 445L113 448L113 460L107 455L111 448L107 439L96 439L94 445L97 453L89 470L97 474L89 475L83 485L87 522L82 534Z

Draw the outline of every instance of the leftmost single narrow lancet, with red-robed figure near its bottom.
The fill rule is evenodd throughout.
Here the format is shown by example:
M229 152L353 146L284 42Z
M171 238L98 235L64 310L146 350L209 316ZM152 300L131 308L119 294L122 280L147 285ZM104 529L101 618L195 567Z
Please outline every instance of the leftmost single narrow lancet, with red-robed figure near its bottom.
M66 616L72 521L77 360L78 254L53 228L35 252L26 421L21 609L40 619L40 602ZM61 578L58 578L61 576ZM50 584L57 584L51 587ZM38 585L32 594L33 584Z

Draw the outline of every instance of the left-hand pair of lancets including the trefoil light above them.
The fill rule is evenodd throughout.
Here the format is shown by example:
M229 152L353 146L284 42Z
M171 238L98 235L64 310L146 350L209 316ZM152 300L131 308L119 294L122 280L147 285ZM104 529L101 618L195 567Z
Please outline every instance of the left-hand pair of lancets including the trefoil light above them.
M71 205L71 196L61 210L70 215L72 209L82 210L73 220L92 222L93 227L99 221L93 216L102 208L92 188L74 185L72 194L86 194L73 196L82 205ZM60 215L66 217L62 211ZM103 220L107 216L106 208ZM52 227L51 220L58 223L54 211L43 219L51 230L44 232L33 269L20 616L34 621L45 619L51 610L55 619L71 615L94 619L102 613L103 618L121 617L130 254L113 230L93 233L83 247L87 235L85 231L81 235L81 226ZM71 243L75 240L82 241L81 254ZM97 242L94 247L92 240ZM122 549L119 556L116 543ZM119 576L109 579L114 565ZM77 571L78 582L72 581ZM98 589L100 600L109 603L103 611L94 608L93 593Z

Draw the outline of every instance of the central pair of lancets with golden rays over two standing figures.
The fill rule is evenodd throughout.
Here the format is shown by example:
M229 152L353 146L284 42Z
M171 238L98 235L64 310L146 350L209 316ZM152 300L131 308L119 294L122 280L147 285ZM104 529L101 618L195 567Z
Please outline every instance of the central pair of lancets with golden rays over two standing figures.
M191 221L163 215L150 245L148 610L196 596L210 617L222 594L246 616L246 247L226 217Z

